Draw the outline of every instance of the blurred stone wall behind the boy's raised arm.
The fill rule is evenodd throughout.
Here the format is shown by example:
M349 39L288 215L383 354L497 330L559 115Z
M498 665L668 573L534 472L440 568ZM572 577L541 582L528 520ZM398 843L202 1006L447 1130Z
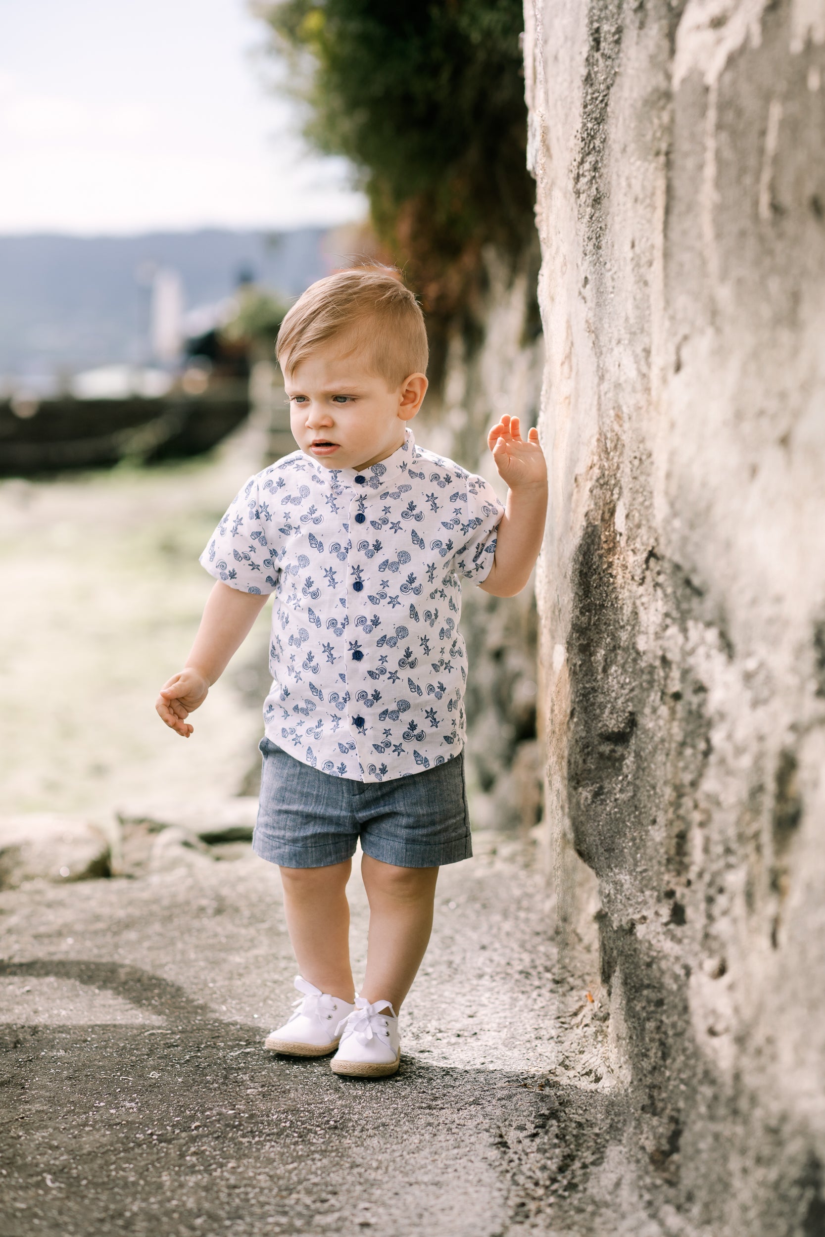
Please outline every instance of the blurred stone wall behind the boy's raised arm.
M423 447L481 473L503 497L487 432L507 412L534 426L544 365L536 303L538 244L512 260L484 254L482 287L449 330L444 372L414 424ZM526 432L526 430L524 430ZM466 772L476 829L527 833L542 810L542 757L536 732L536 597L491 597L465 589L468 644Z

